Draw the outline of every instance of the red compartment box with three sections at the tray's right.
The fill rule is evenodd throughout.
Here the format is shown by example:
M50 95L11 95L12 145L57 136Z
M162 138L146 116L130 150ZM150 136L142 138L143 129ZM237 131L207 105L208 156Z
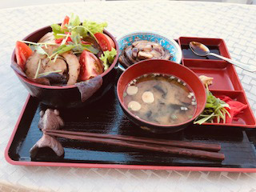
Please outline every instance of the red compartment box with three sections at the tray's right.
M209 59L199 56L198 58L193 58L194 53L191 50L187 50L190 42L202 42L206 46L212 47L218 54L221 54L226 58L230 58L230 54L226 48L224 40L221 38L179 38L178 43L183 47L182 65L193 70L198 76L203 74L214 78L213 85L209 86L209 88L215 96L224 94L248 106L242 114L238 115L238 120L236 121L231 123L204 123L203 125L255 128L256 122L253 111L250 108L250 103L246 98L246 93L242 88L242 84L234 66L229 62L214 60L212 58ZM187 51L186 55L184 55L184 50Z

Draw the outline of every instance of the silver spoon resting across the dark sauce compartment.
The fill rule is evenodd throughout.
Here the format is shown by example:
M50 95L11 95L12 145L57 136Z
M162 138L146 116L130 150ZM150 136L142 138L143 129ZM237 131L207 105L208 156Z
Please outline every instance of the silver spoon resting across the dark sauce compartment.
M230 62L234 66L238 66L243 70L247 70L250 72L256 71L256 66L246 65L241 62L231 60L230 58L225 58L225 57L222 57L221 55L210 53L210 50L208 49L208 47L203 45L201 42L190 42L190 49L194 52L194 54L197 54L198 56L205 57L207 55L212 55L217 58L222 58L223 60Z

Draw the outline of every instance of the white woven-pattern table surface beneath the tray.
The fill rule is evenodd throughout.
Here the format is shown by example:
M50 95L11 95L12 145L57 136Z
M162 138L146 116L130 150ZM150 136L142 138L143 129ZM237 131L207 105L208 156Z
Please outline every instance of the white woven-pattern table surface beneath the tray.
M66 14L106 21L115 36L153 30L171 38L223 38L231 57L256 65L256 6L214 2L76 2L0 10L0 191L256 191L256 174L12 166L4 150L27 91L10 69L17 40ZM256 113L256 74L238 69Z

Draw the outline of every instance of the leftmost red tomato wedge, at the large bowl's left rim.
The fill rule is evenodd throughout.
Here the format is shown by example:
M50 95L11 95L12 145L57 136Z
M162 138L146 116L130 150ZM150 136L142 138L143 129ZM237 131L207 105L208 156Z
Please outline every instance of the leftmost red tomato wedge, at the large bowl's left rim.
M24 42L16 42L15 54L18 66L25 70L26 60L33 54L33 51Z

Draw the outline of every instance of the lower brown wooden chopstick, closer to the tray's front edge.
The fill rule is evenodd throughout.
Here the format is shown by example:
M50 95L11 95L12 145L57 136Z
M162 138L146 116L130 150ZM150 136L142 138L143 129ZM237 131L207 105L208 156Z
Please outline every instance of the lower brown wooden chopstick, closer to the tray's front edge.
M45 130L45 133L49 134L50 136L70 138L70 139L75 139L80 141L99 142L99 143L114 145L114 146L126 146L126 147L135 148L135 149L152 150L152 151L158 151L158 152L164 152L164 153L170 153L170 154L180 154L180 155L185 155L193 158L206 158L206 159L211 159L216 161L222 161L225 158L224 154L217 153L217 152L209 152L204 150L192 150L192 149L179 148L174 146L163 146L158 144L142 143L142 142L134 142L134 141L123 141L123 140L112 139L112 138L97 138L97 137L90 137L85 135L77 135L74 133L68 134L64 132L70 132L70 131Z

